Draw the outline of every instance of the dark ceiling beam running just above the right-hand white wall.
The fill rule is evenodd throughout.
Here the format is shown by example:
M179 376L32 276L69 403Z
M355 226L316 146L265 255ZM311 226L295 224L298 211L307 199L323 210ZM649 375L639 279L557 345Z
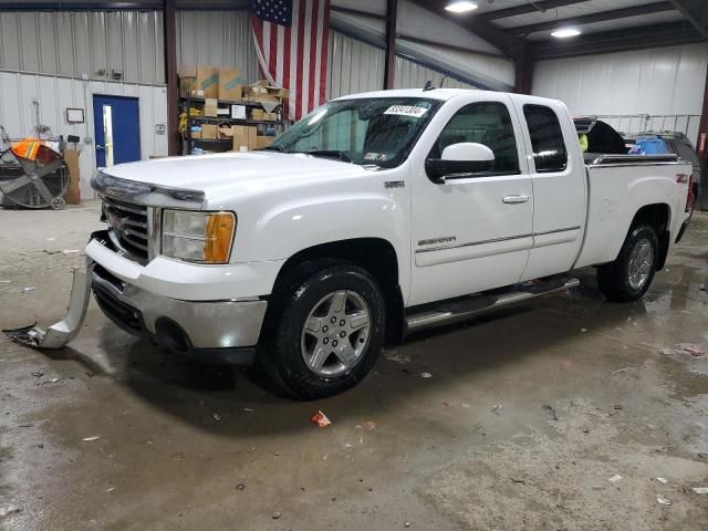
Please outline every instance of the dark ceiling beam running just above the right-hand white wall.
M705 41L706 38L688 22L679 21L587 33L564 41L553 39L529 42L529 48L531 56L539 61Z

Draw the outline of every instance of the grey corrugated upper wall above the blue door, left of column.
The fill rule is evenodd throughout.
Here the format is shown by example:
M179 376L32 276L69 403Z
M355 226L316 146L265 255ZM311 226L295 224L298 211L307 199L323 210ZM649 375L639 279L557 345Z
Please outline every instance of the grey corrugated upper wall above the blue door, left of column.
M159 11L0 11L4 70L162 84L163 49Z

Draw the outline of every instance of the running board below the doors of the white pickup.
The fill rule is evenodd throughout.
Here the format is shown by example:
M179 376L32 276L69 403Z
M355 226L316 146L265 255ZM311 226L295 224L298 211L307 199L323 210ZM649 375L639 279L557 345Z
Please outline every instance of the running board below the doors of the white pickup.
M580 280L566 275L546 277L523 282L506 290L493 290L464 299L441 302L437 306L406 315L406 332L413 333L441 324L465 321L473 315L537 296L580 285Z

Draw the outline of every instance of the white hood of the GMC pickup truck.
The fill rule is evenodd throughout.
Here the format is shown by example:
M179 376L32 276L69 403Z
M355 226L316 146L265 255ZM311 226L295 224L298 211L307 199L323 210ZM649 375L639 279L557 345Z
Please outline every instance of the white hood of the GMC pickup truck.
M204 191L209 199L246 190L367 175L368 170L305 154L247 152L157 158L112 166L103 173L159 187Z

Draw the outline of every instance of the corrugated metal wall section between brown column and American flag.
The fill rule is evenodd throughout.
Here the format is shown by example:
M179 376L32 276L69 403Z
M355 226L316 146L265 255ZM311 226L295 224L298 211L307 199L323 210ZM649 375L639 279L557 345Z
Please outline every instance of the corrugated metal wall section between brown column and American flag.
M177 64L238 69L260 79L247 11L177 11Z

